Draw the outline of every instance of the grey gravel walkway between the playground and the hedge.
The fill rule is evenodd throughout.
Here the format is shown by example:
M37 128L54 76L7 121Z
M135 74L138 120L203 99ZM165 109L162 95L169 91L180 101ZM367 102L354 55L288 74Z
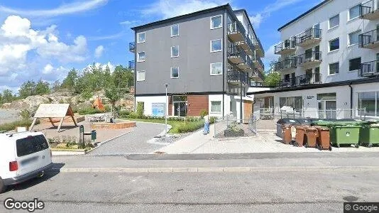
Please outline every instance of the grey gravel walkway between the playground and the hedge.
M146 143L151 138L158 136L165 130L163 124L150 124L137 122L136 127L130 133L101 144L99 148L89 155L123 155L131 153L150 153L162 147L162 145Z

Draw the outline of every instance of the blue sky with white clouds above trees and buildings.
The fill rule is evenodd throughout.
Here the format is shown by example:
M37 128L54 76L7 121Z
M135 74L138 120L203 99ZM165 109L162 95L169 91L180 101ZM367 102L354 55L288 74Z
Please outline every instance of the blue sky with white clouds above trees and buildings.
M133 26L229 3L246 9L265 49L266 67L278 28L321 0L1 0L0 92L27 80L62 80L93 62L127 66Z

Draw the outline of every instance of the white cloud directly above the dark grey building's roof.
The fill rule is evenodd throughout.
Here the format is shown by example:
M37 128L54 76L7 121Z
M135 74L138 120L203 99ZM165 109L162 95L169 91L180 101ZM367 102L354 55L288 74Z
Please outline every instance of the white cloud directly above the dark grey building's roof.
M142 13L144 15L158 15L163 18L180 16L194 11L201 11L212 7L227 4L224 0L158 0L148 6Z

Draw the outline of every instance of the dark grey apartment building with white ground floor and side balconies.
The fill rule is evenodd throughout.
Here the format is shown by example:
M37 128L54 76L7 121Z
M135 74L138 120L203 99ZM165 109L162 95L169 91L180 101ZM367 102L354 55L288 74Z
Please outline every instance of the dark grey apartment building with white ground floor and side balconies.
M251 115L246 92L262 80L264 50L245 10L226 4L131 29L129 67L145 115Z

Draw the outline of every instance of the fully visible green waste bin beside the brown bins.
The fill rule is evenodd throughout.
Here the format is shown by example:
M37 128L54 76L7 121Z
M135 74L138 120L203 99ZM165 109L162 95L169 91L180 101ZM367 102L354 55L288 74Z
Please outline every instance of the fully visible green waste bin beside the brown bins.
M332 125L330 126L330 142L340 147L341 144L353 144L359 148L359 131L361 125Z

